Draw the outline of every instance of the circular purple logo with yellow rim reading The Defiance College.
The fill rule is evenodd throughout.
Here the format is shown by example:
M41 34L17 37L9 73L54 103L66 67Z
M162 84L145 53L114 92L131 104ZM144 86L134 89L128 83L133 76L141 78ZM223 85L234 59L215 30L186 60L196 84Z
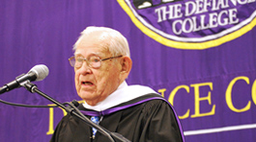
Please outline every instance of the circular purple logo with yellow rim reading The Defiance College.
M178 49L221 45L256 25L256 0L118 0L147 36Z

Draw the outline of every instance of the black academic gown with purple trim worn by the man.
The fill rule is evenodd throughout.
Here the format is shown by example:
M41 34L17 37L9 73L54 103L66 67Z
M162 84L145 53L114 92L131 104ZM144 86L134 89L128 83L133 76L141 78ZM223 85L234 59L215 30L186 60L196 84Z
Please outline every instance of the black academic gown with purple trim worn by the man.
M182 142L183 130L174 109L158 94L148 94L119 106L98 112L78 106L89 119L102 117L100 126L115 131L132 142ZM91 115L91 116L90 116ZM109 142L99 131L95 139L92 129L82 120L66 115L58 124L51 142Z

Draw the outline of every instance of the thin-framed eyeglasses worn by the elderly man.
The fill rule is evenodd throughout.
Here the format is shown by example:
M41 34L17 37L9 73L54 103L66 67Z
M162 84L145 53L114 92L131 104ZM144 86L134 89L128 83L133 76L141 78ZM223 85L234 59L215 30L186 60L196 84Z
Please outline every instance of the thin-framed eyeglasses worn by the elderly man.
M123 57L123 56L111 57L111 58L107 58L107 59L115 59L115 58L121 58L121 57ZM81 67L85 60L89 67L100 68L101 61L104 61L107 59L100 59L100 57L98 57L98 56L90 56L87 59L84 59L82 56L78 56L78 57L71 57L69 60L70 60L72 67L76 67L76 68Z

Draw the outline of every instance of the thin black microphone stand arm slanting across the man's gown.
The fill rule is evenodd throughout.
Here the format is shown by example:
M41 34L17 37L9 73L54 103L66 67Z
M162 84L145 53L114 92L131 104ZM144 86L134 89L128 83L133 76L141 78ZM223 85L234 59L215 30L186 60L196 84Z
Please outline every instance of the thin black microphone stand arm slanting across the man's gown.
M85 116L81 116L79 114L79 112L77 113L75 111L74 108L71 108L69 106L64 106L63 104L59 103L58 101L54 100L53 98L51 98L50 96L46 95L45 93L43 93L41 90L38 89L37 85L34 83L30 83L30 82L26 82L21 84L22 86L24 86L28 91L30 91L31 93L38 93L39 95L43 96L44 98L46 98L47 100L49 100L50 102L54 103L57 106L62 107L63 109L65 109L68 113L70 113L72 116L75 116L77 118L79 118L80 120L84 121L87 125L89 125L92 128L97 129L98 131L100 131L100 133L104 134L105 136L107 136L112 142L130 142L127 138L125 138L123 135L121 135L120 133L117 132L111 132L109 130L106 130L102 127L100 127L100 125L97 125L95 123L93 123L91 120L89 120L87 117Z

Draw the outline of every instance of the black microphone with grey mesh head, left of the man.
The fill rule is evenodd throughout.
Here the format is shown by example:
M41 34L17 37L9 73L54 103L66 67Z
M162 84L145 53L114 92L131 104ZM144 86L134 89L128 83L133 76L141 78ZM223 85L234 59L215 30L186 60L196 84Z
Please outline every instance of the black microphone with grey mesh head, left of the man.
M35 65L27 74L22 74L15 78L13 82L6 83L0 88L0 94L13 90L23 83L42 81L49 74L49 69L44 64Z

